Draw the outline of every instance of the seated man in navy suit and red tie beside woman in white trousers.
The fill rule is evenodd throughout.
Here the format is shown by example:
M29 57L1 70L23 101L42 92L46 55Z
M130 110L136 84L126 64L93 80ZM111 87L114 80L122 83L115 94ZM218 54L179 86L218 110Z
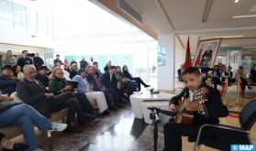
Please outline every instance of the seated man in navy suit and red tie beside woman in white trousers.
M99 81L98 77L95 76L95 73L96 73L96 67L90 66L89 73L85 76L87 81L90 81L90 83L94 83L93 91L104 92L106 103L110 110L115 110L117 107L124 108L124 105L120 105L118 103L116 90L115 89L106 90L106 87L103 85L103 83ZM110 98L109 94L111 94L113 97L114 105L112 105L112 99Z

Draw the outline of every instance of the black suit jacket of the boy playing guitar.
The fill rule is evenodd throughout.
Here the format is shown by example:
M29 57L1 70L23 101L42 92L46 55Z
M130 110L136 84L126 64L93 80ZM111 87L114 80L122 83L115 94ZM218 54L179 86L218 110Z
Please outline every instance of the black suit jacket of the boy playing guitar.
M204 103L205 114L194 112L194 125L200 124L219 124L218 117L228 116L228 108L225 106L220 99L220 93L217 89L211 88L203 83L199 88L206 87L209 90L209 95L207 101ZM184 91L180 94L174 96L169 104L178 104L178 100L181 100L182 97L189 97L189 89L184 88Z

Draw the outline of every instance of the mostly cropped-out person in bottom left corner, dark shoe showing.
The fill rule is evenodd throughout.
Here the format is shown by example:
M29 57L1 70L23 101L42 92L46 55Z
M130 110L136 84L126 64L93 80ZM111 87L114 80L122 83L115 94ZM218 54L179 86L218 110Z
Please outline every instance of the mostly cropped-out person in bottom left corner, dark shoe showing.
M0 133L0 146L6 150L19 151L19 150L27 150L29 146L27 144L17 144L13 143L5 138L5 135Z

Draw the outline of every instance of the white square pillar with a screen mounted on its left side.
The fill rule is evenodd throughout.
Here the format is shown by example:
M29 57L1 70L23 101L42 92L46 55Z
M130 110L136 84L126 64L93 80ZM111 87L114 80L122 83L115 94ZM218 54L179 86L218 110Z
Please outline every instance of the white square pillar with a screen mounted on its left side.
M166 64L158 67L158 90L174 91L175 37L173 33L159 34L158 44L166 49Z

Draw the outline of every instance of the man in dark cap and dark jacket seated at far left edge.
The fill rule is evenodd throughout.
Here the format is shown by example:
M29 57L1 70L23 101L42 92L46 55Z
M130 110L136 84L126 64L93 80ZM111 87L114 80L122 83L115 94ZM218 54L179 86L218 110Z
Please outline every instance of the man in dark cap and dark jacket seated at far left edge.
M17 83L20 81L17 76L12 76L12 73L12 66L6 65L2 68L2 74L0 75L0 89L9 95L16 92Z

